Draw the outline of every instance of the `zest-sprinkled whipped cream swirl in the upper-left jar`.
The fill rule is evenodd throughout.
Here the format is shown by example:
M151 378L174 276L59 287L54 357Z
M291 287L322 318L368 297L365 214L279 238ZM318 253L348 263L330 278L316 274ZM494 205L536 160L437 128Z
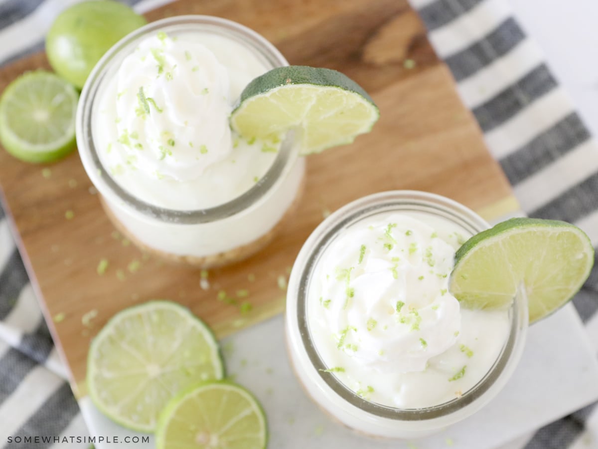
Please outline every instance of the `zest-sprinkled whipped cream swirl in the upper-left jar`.
M227 69L202 44L145 38L117 73L114 145L150 177L193 180L231 151Z

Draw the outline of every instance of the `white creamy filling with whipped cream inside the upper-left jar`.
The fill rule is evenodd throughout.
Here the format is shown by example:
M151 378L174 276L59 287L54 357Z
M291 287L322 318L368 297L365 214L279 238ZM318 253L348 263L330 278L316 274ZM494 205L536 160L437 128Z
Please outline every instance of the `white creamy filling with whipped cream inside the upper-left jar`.
M94 141L105 169L150 204L213 207L250 189L279 142L231 132L234 101L266 62L230 38L157 32L100 87Z

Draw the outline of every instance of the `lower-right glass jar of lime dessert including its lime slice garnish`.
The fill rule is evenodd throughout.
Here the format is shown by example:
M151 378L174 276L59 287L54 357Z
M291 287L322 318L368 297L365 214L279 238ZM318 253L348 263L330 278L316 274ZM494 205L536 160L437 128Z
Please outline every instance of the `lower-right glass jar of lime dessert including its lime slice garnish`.
M286 303L289 356L316 404L367 435L419 438L499 393L528 324L572 298L594 251L568 223L489 227L448 198L396 191L316 228Z

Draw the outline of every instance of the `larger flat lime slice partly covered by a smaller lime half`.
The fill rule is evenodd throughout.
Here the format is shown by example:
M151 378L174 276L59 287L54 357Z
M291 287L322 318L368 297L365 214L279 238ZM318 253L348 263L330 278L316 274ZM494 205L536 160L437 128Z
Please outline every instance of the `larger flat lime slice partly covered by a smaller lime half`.
M117 423L152 432L170 399L224 367L208 326L186 308L151 301L114 315L91 343L87 388Z

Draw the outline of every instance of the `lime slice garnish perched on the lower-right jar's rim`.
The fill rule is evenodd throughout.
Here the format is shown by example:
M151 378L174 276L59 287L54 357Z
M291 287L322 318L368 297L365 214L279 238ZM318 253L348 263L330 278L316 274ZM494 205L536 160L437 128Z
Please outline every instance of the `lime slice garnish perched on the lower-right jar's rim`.
M594 263L590 239L556 220L511 219L474 235L455 254L450 292L469 309L511 305L523 284L530 323L566 304Z

